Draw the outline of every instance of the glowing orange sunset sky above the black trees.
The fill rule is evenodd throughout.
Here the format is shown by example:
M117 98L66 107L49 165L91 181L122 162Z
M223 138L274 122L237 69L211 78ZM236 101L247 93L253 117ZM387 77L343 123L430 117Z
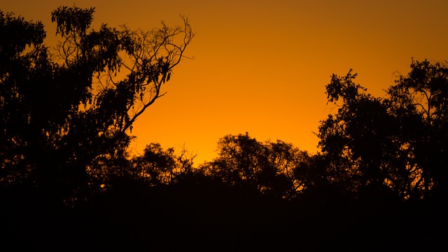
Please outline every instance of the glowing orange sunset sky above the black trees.
M94 27L152 29L181 25L195 38L172 80L134 123L130 148L185 148L195 163L216 157L227 134L280 139L316 153L321 120L335 111L325 85L350 69L381 96L416 60L448 59L448 1L376 0L0 0L3 12L41 20L54 39L50 13L58 6L95 7Z

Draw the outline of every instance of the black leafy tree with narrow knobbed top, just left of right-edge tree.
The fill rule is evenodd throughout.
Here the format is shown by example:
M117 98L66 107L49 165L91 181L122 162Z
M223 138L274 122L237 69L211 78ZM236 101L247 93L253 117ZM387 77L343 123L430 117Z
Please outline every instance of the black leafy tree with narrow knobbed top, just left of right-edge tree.
M395 153L389 139L395 128L384 101L365 93L354 78L351 71L343 77L333 75L326 86L328 101L342 104L321 123L319 146L328 161L328 177L342 190L383 190L393 181L388 155Z

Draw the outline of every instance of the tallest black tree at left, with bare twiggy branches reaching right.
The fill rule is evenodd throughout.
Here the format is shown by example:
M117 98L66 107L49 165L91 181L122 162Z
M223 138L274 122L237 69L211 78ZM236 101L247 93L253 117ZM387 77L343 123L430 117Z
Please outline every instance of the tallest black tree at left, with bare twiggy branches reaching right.
M2 183L27 180L60 197L93 186L95 162L125 155L132 123L165 94L194 36L186 18L150 31L92 29L93 13L52 12L56 52L40 22L0 13Z

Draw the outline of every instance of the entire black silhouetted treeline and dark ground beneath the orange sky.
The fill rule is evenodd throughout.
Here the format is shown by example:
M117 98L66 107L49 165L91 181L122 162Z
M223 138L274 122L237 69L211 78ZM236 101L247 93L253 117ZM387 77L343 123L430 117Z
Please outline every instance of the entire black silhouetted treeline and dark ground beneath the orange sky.
M90 27L94 9L40 22L0 11L3 248L207 251L432 250L447 235L448 66L412 59L384 97L333 75L337 111L314 155L248 133L218 156L160 144L130 156L132 123L194 36ZM175 38L179 38L175 39ZM174 41L183 41L176 45ZM122 71L125 78L116 78Z

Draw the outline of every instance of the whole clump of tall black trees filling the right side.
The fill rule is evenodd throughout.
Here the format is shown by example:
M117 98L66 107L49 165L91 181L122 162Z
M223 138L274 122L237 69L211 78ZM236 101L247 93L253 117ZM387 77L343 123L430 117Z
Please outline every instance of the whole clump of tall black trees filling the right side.
M368 94L351 71L333 75L328 102L339 109L318 132L329 181L356 197L418 200L446 190L447 73L439 62L412 61L386 97Z

